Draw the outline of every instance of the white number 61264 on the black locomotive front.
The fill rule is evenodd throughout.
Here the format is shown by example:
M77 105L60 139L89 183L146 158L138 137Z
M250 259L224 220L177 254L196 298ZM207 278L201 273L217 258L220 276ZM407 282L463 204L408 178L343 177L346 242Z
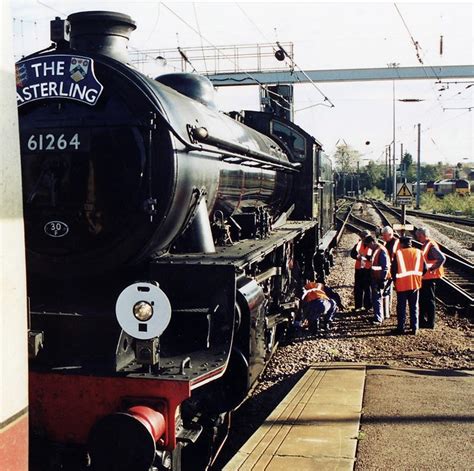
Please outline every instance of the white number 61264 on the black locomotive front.
M90 135L85 130L29 131L21 135L21 152L87 152L90 150Z

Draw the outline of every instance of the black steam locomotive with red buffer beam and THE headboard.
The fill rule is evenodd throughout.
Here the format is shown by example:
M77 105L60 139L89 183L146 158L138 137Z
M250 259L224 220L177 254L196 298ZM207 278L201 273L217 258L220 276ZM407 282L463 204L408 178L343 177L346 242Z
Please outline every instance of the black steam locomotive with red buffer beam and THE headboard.
M32 469L205 469L334 244L331 163L127 59L127 15L17 63ZM198 453L199 452L199 453Z

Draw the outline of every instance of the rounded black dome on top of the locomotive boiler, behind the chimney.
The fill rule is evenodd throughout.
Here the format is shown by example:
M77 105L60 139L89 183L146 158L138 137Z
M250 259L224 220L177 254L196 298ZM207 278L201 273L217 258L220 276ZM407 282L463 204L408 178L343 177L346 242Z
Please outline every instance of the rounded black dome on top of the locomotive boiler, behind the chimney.
M214 87L207 77L197 74L173 73L160 75L155 80L209 108L217 108Z

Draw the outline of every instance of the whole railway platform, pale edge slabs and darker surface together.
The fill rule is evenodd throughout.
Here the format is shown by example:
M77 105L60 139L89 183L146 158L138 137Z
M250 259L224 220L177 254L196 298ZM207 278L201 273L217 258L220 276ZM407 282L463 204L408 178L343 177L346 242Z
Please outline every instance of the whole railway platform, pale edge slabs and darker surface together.
M224 471L472 469L474 371L312 366Z

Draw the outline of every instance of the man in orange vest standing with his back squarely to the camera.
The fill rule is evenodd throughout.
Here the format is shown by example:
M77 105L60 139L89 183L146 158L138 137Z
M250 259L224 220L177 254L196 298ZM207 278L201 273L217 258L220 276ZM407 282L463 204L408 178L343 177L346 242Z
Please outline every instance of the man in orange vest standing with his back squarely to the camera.
M411 246L411 237L400 238L400 248L393 259L391 274L395 280L397 292L397 320L396 333L403 334L406 318L406 304L410 309L410 327L412 334L418 332L418 296L421 288L421 279L426 272L426 263L420 249Z

